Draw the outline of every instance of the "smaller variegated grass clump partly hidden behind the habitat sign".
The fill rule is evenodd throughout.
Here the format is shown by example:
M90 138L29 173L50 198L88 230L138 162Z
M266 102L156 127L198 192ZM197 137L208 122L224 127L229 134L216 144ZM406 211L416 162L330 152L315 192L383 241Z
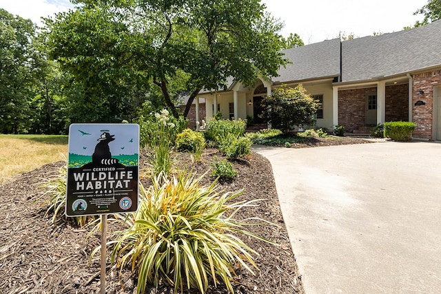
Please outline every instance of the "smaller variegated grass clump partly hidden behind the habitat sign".
M66 219L65 217L65 203L66 203L66 182L68 180L67 165L63 165L58 169L57 174L47 178L41 182L41 187L45 189L44 195L48 196L43 203L49 203L46 210L45 218L52 214L52 223L57 223L59 219ZM75 221L80 227L84 227L88 222L94 220L94 216L76 216Z

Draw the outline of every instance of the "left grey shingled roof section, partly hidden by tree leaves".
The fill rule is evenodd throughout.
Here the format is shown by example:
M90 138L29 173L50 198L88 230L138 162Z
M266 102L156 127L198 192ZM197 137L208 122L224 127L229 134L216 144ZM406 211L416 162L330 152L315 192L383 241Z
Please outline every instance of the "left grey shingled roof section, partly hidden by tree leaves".
M283 53L290 63L280 67L279 76L272 78L274 83L340 76L340 39L291 48Z

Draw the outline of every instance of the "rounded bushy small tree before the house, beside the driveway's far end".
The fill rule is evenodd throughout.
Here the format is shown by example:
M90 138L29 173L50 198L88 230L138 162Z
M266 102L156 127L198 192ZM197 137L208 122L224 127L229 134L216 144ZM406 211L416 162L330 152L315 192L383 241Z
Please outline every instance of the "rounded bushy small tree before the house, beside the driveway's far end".
M277 88L271 96L263 98L263 106L272 127L287 132L294 126L311 124L319 103L306 93L302 85L298 85Z

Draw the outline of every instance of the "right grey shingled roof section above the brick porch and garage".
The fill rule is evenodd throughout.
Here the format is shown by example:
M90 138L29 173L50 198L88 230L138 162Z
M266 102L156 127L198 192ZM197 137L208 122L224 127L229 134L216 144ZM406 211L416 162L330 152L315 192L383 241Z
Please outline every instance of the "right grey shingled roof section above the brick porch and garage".
M342 42L342 82L364 81L441 65L441 21Z

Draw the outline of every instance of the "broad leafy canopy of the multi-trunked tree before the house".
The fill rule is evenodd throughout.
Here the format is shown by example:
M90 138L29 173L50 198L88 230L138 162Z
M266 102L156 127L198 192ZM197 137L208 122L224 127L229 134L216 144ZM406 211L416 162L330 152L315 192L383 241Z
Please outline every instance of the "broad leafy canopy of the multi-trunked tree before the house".
M50 54L85 83L92 105L107 103L152 83L174 116L177 94L225 89L233 77L252 85L257 76L277 76L286 63L276 32L282 25L258 0L127 0L81 3L48 21ZM174 85L178 77L185 77ZM116 94L110 97L107 87ZM130 88L130 87L129 87ZM101 93L100 96L100 91Z

